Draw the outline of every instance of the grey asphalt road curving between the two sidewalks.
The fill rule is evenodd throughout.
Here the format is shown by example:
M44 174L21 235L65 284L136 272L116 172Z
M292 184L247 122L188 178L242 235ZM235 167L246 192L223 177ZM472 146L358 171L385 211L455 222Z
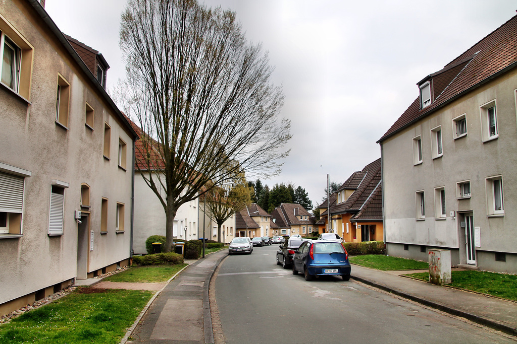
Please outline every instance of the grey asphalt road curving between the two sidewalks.
M306 282L276 265L277 250L255 247L222 261L215 297L227 343L515 343L352 280Z

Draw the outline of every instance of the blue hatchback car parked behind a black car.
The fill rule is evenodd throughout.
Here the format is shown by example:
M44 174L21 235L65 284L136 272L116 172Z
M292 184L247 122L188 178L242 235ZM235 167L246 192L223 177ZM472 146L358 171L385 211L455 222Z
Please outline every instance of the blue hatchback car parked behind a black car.
M306 281L322 275L340 275L344 281L348 281L350 270L348 253L341 242L305 241L293 257L293 275L301 272Z

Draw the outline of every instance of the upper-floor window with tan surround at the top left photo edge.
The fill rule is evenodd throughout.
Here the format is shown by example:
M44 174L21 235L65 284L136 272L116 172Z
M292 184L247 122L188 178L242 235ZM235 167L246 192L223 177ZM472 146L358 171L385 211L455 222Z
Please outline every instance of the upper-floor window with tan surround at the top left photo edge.
M0 14L0 66L2 85L26 100L31 94L33 46Z

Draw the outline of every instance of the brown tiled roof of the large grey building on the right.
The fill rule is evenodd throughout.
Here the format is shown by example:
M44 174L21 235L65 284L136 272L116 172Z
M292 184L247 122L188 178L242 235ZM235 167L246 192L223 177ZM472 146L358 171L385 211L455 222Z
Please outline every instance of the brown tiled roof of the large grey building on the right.
M420 109L420 99L417 97L378 142L517 67L516 62L517 15L449 62L444 69L422 79L420 83L431 81L431 105ZM418 88L415 90L418 91Z

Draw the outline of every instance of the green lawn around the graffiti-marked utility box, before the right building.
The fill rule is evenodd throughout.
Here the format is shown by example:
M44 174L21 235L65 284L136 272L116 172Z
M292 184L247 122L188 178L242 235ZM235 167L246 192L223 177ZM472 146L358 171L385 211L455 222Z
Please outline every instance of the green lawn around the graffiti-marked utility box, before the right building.
M452 271L451 274L450 286L517 301L517 275L486 271ZM429 281L428 272L411 273L407 276Z

